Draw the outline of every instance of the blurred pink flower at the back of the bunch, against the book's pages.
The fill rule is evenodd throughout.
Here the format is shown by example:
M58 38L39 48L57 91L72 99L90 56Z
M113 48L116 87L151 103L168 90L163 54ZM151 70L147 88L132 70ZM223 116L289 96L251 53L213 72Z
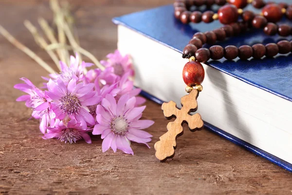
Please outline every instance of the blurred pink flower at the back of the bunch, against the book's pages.
M115 75L122 77L125 73L129 72L130 76L134 76L133 65L128 55L123 57L118 50L115 50L113 54L108 54L107 58L107 61L102 60L100 63L105 67L113 67Z

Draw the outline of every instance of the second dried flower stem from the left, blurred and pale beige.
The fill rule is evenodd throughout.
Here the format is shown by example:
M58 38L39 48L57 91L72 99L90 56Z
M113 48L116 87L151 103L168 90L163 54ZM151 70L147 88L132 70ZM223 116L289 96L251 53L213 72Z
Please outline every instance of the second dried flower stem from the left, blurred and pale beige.
M34 36L34 39L36 40L37 44L42 47L44 50L47 51L49 56L53 59L55 62L56 66L58 67L59 70L61 70L61 67L59 65L59 59L55 55L55 53L51 50L47 50L48 43L43 39L37 32L37 28L28 20L24 20L24 25L25 27L31 32L31 34Z

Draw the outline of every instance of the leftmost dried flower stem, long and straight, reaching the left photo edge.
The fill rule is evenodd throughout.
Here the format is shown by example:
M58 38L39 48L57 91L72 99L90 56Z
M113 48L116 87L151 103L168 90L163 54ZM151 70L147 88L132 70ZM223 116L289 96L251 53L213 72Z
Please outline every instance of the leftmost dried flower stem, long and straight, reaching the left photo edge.
M15 47L23 51L26 55L34 59L41 67L43 67L50 74L55 73L53 68L51 68L45 61L39 58L32 50L24 46L17 39L15 39L8 31L0 25L0 34L6 38L9 42L11 42Z

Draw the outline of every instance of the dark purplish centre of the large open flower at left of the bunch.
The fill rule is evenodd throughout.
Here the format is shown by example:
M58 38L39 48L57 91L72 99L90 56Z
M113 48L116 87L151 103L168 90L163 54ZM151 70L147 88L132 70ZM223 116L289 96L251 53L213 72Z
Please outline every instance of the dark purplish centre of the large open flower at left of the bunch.
M66 114L78 113L81 108L78 98L71 93L67 93L60 99L59 106L60 110Z

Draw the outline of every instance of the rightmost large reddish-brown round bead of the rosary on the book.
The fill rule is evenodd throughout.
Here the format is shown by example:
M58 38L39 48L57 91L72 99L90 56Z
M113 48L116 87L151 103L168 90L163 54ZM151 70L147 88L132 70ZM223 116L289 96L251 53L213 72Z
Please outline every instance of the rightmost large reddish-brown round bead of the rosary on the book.
M277 22L281 20L283 16L281 8L277 4L274 4L274 3L266 5L263 8L262 13L264 17L270 22Z

